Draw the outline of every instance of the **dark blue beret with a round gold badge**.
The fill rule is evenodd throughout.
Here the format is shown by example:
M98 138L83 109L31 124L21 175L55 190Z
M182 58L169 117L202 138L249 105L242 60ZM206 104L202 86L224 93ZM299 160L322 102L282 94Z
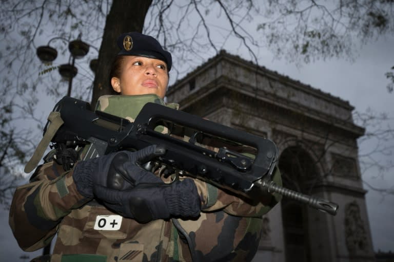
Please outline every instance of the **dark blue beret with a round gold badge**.
M171 53L165 51L159 41L152 36L139 32L124 33L117 38L117 46L121 49L118 55L136 55L160 59L166 62L168 71L171 70Z

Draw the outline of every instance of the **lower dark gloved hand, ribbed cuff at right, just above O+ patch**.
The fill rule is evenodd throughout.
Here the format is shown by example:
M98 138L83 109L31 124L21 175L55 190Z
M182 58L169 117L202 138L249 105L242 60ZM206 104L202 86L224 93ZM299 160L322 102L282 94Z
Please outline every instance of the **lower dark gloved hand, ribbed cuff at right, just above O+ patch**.
M134 165L124 164L132 189L115 190L94 186L94 194L104 205L122 216L140 223L170 217L196 217L200 214L200 197L193 180L164 183L153 173Z

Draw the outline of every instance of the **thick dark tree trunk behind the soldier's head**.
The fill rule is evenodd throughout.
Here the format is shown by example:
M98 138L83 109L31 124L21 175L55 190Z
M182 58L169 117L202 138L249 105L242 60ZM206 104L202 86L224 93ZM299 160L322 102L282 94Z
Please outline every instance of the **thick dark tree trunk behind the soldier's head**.
M109 82L112 59L119 52L116 40L126 32L142 33L146 13L152 0L114 0L107 16L103 40L99 51L99 63L95 72L92 92L92 108L102 95L114 94Z

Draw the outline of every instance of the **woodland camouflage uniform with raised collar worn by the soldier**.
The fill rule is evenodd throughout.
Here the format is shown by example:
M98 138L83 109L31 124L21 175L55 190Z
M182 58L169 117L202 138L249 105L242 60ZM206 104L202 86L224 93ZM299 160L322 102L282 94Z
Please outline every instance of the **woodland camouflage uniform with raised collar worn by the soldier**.
M97 109L131 121L146 103L136 99L125 110L124 96L108 98L101 97ZM158 97L153 100L164 104ZM197 219L139 224L121 217L118 230L96 230L98 216L116 217L117 222L120 216L84 198L72 173L55 162L45 163L36 168L29 184L15 191L9 223L19 246L25 251L43 248L57 233L53 254L34 261L192 261L192 256L193 261L250 261L261 236L261 217L280 201L274 195L251 205L193 179L202 200ZM274 181L281 184L279 171Z

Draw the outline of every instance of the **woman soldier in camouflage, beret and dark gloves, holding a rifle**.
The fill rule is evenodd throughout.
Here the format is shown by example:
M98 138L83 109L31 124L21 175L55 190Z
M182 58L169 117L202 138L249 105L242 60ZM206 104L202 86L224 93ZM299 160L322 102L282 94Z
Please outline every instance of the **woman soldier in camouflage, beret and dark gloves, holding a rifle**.
M146 102L178 107L163 101L171 54L136 32L117 43L110 83L121 95L101 97L96 109L133 121ZM198 179L169 183L137 165L160 154L150 146L79 161L70 170L56 161L37 167L11 205L19 246L43 248L57 233L53 254L33 261L250 261L261 217L279 197L251 205ZM131 184L113 182L116 172ZM280 184L279 171L274 180Z

